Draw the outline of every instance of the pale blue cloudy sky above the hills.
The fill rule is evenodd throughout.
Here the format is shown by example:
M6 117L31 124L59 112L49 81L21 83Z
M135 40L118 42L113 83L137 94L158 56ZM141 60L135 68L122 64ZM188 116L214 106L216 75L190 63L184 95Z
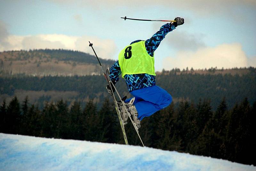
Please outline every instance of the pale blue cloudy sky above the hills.
M155 51L156 71L193 67L256 67L255 0L0 0L0 52L70 49L118 59L134 40L147 40L166 22L185 23Z

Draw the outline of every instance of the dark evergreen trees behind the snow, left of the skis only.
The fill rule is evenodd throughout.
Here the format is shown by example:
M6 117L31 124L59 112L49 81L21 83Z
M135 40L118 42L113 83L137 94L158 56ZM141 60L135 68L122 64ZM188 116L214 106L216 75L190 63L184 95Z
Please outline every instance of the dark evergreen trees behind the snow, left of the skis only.
M99 111L92 100L84 109L78 101L68 109L62 99L56 104L46 102L43 110L39 110L38 106L29 104L28 97L21 105L14 97L9 105L4 101L0 107L0 132L114 143L118 139L114 135L118 122L113 113L108 99Z

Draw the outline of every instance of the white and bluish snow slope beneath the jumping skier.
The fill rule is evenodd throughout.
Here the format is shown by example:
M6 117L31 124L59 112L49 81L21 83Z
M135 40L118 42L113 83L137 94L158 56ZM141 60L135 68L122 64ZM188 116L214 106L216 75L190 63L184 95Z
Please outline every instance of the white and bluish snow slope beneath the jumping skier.
M256 167L148 147L0 133L0 170L255 171Z

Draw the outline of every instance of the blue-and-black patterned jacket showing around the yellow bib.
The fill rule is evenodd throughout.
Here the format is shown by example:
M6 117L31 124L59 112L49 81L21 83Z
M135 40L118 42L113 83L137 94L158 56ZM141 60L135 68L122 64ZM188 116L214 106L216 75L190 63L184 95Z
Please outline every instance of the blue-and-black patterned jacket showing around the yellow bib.
M159 46L160 42L164 39L165 35L175 29L174 25L167 23L164 24L156 34L154 34L150 39L145 41L145 47L150 56L153 57L154 51ZM136 40L132 43L140 42L142 40ZM131 43L131 44L132 44ZM110 68L109 78L115 84L119 80L119 75L121 73L121 68L119 66L118 60ZM142 89L145 87L153 86L156 84L156 76L149 74L126 74L124 76L128 91Z

